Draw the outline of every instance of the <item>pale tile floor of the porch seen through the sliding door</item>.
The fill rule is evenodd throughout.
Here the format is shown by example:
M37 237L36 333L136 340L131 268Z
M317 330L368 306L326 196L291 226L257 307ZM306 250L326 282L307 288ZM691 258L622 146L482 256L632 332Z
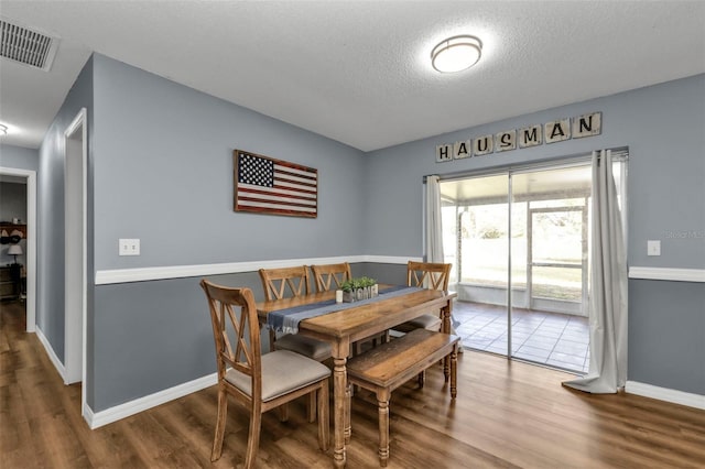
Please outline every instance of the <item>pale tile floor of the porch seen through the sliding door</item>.
M465 348L507 355L507 307L456 302L453 316ZM587 373L588 345L586 317L512 308L516 358Z

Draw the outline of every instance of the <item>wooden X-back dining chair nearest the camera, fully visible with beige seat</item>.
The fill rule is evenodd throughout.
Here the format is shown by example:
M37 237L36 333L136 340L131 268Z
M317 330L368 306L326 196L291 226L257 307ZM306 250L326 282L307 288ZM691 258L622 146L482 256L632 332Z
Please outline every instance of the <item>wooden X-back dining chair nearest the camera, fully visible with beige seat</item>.
M328 381L324 364L288 350L261 353L260 326L250 288L200 281L208 299L218 368L218 417L210 460L223 452L228 396L250 413L246 468L254 466L262 414L294 399L317 396L318 446L328 449Z

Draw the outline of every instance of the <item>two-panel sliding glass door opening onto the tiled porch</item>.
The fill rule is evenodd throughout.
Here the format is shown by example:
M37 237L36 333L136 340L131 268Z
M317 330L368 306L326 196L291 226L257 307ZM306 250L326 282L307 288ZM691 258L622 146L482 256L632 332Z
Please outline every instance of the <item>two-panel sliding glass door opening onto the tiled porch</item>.
M587 372L590 178L579 159L442 179L465 347Z

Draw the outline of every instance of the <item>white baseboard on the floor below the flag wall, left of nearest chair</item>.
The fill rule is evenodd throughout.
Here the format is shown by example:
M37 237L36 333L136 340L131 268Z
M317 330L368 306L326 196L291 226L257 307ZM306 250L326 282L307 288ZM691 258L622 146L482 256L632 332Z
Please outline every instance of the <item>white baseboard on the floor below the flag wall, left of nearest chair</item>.
M126 402L124 404L116 405L105 411L94 413L93 410L86 405L84 408L84 418L88 422L88 426L95 429L217 383L218 374L213 373L154 394L145 395L144 397L135 399L134 401Z

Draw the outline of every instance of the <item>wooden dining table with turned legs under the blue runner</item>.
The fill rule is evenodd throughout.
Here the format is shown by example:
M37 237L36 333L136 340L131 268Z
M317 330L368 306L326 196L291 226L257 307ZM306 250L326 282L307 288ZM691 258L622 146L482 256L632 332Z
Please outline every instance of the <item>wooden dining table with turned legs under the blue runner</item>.
M333 348L333 389L334 389L334 465L345 467L345 445L350 439L348 397L350 389L347 381L346 363L350 345L367 339L394 326L419 317L425 313L440 312L443 319L442 331L451 331L451 312L455 293L436 290L417 290L399 296L384 297L383 288L373 303L349 303L349 307L311 317L299 324L299 334L330 342ZM315 305L335 298L335 292L322 292L292 298L273 299L257 304L260 321L267 323L272 312ZM445 364L446 373L448 364Z

